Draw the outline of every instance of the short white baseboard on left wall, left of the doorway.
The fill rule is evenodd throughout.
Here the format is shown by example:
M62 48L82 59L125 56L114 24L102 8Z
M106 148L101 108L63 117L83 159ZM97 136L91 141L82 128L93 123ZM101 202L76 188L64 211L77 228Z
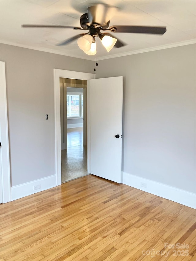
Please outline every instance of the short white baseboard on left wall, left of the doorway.
M34 190L34 186L40 185L39 189ZM37 179L31 182L11 187L11 201L20 199L48 188L56 187L56 175Z

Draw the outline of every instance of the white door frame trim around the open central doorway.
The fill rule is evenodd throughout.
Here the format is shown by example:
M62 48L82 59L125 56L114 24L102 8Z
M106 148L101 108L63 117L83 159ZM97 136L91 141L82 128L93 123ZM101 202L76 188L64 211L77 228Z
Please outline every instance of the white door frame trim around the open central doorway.
M87 80L87 171L90 173L90 144L89 144L89 106L90 79L95 79L94 73L81 73L54 69L54 97L55 97L55 175L56 185L61 185L61 117L60 117L60 81L59 78Z

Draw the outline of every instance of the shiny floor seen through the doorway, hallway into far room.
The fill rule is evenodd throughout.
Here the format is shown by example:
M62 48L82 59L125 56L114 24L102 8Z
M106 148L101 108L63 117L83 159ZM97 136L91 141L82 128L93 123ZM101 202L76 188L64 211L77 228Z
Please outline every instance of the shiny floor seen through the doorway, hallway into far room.
M85 175L87 146L83 145L83 128L67 129L67 150L61 151L61 183Z

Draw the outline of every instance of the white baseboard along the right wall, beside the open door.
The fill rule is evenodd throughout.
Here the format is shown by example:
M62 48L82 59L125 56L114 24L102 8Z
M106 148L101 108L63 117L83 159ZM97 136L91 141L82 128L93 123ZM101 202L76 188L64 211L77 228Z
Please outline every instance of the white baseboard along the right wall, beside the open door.
M187 207L196 209L196 194L182 190L179 188L171 187L156 181L138 177L126 172L122 172L122 183L133 188L138 188L142 191L160 196L165 199L183 204ZM141 182L147 184L147 188L141 187Z

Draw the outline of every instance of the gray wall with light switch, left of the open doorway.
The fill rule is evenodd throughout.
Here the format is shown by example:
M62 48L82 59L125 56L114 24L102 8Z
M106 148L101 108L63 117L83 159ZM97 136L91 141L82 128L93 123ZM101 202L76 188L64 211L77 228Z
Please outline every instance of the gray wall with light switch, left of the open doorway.
M1 44L1 61L6 65L11 185L15 186L55 174L53 69L93 73L94 65L5 44Z

